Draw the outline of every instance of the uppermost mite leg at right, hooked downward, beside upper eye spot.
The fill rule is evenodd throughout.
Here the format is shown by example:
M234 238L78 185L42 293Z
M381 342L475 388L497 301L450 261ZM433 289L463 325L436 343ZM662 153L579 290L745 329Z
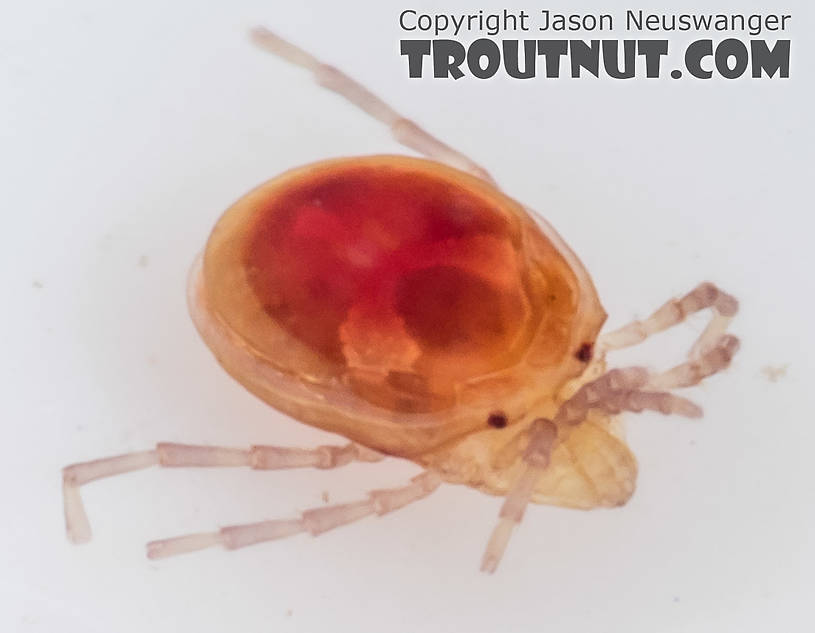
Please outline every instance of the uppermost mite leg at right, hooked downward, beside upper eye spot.
M671 299L644 321L633 321L603 334L597 340L597 346L603 351L631 347L706 308L712 310L713 316L689 354L692 359L698 358L718 344L739 309L739 302L734 297L709 282L699 284L680 299Z

